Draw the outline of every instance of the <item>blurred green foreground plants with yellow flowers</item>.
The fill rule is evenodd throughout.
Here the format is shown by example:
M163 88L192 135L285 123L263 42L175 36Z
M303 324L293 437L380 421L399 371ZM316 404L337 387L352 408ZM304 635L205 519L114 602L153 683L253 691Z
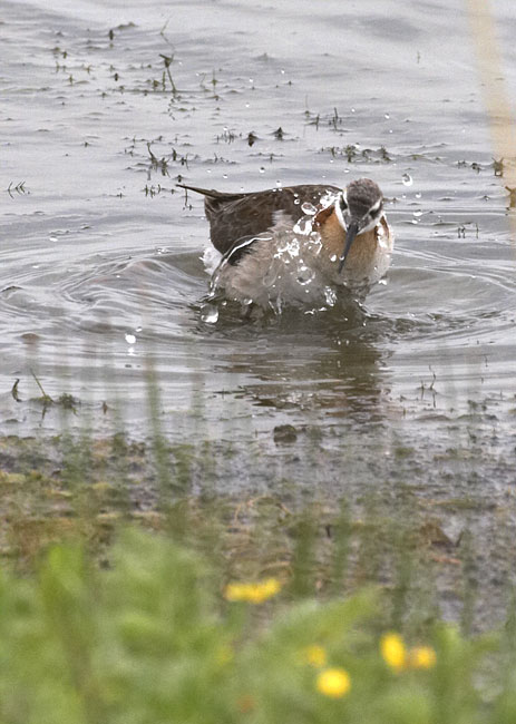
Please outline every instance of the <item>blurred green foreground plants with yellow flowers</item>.
M2 722L514 722L515 623L392 630L378 588L324 601L292 577L224 580L135 529L0 581Z

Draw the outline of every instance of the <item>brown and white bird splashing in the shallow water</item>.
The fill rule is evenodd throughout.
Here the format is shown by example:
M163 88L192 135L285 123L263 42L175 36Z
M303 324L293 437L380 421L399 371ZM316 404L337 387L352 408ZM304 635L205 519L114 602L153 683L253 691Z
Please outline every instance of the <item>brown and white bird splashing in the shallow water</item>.
M363 296L389 267L393 235L369 178L343 190L302 185L250 194L178 185L205 197L220 254L212 290L226 299L276 312L318 300L333 305L342 287Z

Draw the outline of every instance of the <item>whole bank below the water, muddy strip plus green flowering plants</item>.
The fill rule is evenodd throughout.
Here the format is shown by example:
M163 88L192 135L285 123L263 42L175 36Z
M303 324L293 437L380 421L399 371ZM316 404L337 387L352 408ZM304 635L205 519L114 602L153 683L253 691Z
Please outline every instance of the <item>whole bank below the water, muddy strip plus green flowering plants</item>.
M244 499L210 471L158 429L0 440L0 721L514 721L510 575L500 625L491 541L439 517L471 497Z

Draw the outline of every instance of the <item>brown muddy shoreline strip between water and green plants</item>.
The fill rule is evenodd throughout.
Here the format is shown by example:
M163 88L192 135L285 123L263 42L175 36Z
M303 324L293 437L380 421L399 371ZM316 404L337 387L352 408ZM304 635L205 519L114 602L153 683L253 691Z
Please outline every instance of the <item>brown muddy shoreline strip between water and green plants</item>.
M478 499L474 487L434 498L392 478L359 496L329 499L317 487L308 496L278 480L244 497L217 485L214 454L207 442L130 442L121 433L0 439L3 566L31 573L50 545L70 539L103 564L130 524L196 552L222 581L280 577L296 596L321 600L380 586L395 628L445 618L469 633L506 617L510 500ZM216 454L231 461L234 451Z

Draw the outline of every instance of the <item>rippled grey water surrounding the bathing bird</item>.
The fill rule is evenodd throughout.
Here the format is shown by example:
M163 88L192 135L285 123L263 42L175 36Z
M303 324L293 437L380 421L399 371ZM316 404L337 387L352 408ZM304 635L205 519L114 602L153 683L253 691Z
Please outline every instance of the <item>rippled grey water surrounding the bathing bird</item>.
M491 540L500 516L513 530L514 212L461 3L1 9L1 432L51 434L65 414L146 438L152 356L162 428L210 447L212 487L330 500L383 487L396 511L403 486L430 512L473 501L444 520L451 539L467 522ZM514 96L516 17L496 12ZM206 319L207 224L178 179L360 176L391 199L397 236L362 311ZM33 375L77 414L42 414Z

